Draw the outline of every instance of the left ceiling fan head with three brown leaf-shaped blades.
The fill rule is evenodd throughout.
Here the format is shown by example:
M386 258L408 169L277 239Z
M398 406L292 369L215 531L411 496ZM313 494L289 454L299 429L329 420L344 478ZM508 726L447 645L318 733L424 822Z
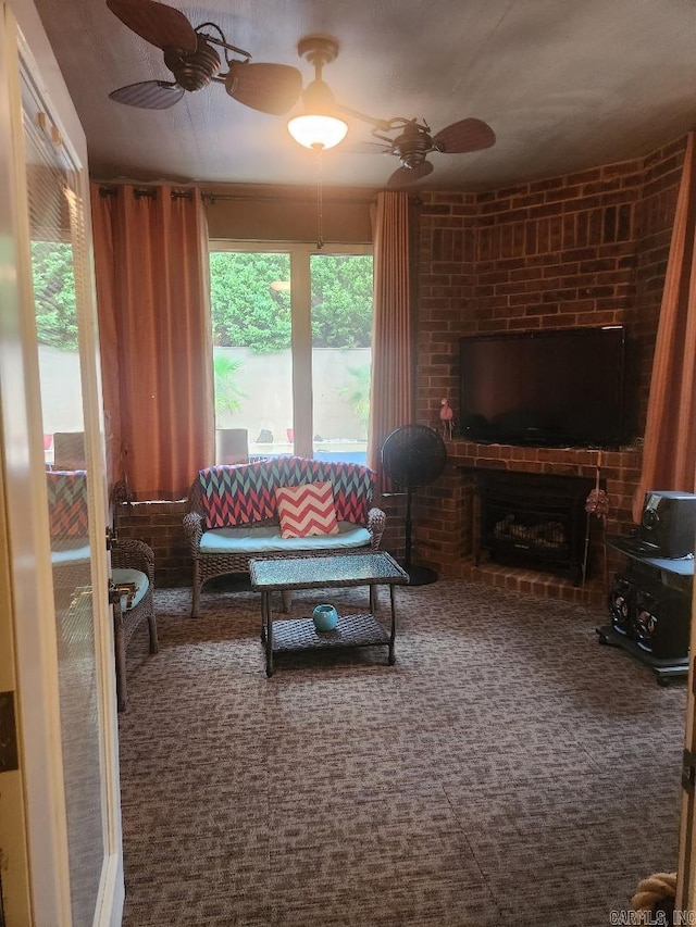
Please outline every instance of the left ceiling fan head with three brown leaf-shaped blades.
M184 93L201 90L215 82L239 103L263 113L281 115L297 103L302 75L287 64L251 63L251 54L229 45L215 23L191 26L186 16L156 0L107 0L121 22L164 53L173 80L141 80L113 90L119 103L146 110L166 110ZM214 46L224 49L226 73ZM229 57L229 52L239 55Z

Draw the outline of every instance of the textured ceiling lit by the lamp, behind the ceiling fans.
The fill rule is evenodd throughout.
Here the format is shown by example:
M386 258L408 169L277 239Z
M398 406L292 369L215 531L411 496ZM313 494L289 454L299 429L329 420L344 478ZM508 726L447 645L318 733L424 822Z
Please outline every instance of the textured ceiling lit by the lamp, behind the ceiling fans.
M141 0L142 3L149 0ZM213 84L172 109L109 100L138 80L170 79L162 52L104 0L36 0L87 135L95 178L201 184L312 184L318 164L271 116ZM493 148L430 155L418 189L483 190L645 154L696 123L693 0L208 0L173 2L194 26L217 23L256 62L300 68L308 34L335 36L324 79L347 107L425 120L469 116ZM349 138L370 139L351 121ZM383 187L398 160L340 147L323 155L327 186Z

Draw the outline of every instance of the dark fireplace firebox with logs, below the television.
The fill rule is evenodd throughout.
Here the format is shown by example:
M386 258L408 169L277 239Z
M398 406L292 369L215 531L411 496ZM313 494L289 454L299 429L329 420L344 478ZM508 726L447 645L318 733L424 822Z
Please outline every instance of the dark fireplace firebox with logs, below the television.
M561 573L575 585L586 563L584 477L490 472L477 475L480 550L500 563Z

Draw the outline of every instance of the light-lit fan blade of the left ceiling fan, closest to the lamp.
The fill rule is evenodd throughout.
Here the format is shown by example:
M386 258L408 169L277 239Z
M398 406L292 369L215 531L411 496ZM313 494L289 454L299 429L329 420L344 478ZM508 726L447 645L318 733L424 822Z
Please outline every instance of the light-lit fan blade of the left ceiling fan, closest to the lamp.
M302 92L302 75L288 64L229 62L225 88L233 100L279 116L289 112Z

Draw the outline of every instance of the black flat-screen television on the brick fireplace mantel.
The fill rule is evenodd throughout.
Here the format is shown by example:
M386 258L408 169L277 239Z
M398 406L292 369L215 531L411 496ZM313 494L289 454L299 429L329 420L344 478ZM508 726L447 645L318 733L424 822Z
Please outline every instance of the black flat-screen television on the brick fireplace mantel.
M624 442L623 326L476 335L460 345L462 437L537 447Z

